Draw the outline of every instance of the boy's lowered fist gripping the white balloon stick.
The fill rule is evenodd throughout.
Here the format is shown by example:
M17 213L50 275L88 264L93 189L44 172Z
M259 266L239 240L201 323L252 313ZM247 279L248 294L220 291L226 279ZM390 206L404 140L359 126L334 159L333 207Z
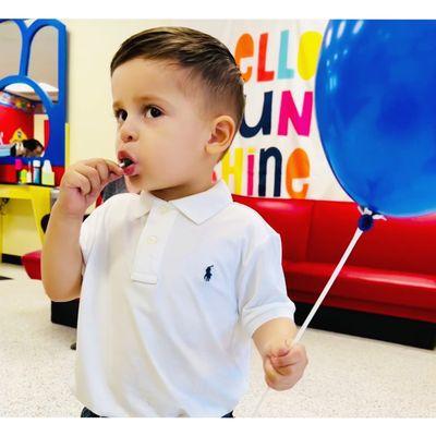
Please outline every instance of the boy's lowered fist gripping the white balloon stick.
M265 382L276 390L290 389L303 376L307 363L304 346L291 347L289 340L274 344L264 359Z

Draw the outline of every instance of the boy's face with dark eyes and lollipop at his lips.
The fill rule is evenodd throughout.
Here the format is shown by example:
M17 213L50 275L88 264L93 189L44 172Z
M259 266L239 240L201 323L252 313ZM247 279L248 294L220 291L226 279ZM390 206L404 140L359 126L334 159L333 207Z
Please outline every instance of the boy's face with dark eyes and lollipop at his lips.
M172 187L183 194L183 186L187 192L189 185L210 181L215 161L205 149L210 122L201 113L199 93L194 97L181 89L185 74L167 62L138 58L113 71L117 156L135 162L126 170L132 190Z

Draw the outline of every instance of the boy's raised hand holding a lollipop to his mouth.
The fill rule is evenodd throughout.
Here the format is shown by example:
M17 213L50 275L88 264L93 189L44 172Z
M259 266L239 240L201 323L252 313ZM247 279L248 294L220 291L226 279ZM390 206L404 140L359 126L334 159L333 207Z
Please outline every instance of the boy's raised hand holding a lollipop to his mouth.
M70 166L62 177L57 209L83 218L101 190L123 174L123 170L108 159L80 160Z

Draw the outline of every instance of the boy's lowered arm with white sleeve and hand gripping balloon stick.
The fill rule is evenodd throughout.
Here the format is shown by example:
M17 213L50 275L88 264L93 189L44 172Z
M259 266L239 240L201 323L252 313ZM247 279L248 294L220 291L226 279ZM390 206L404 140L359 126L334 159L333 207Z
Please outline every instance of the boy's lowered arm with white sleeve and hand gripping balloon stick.
M291 314L277 232L256 244L245 256L239 280L239 311L245 331L262 356L265 382L276 390L290 389L302 377L307 356L293 344L296 327Z

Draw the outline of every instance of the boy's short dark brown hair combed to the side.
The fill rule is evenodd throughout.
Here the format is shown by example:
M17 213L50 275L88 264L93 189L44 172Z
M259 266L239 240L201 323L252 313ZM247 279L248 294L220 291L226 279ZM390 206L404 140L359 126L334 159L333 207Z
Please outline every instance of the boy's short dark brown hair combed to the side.
M230 108L238 132L245 108L244 82L232 53L218 39L187 27L149 28L122 43L110 63L110 74L135 58L174 61L190 69L192 75L206 85L210 101L222 101L220 106ZM209 108L213 106L205 104Z

